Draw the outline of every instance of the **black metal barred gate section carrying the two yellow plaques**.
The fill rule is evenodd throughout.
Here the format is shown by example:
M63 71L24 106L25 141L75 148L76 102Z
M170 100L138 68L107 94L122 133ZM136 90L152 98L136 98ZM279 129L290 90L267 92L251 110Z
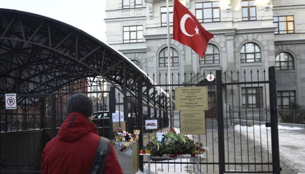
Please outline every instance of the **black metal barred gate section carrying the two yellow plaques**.
M252 70L224 72L216 70L215 80L207 80L212 72L205 74L184 73L183 84L163 84L158 87L166 91L175 87L208 87L209 110L205 111L206 134L188 135L194 142L208 147L200 159L200 173L280 173L277 97L275 68L268 72ZM266 75L268 74L268 75ZM268 77L267 77L268 76ZM167 79L167 74L159 78ZM157 82L156 82L157 83ZM144 86L145 87L145 86ZM150 110L150 109L149 109ZM152 115L158 115L150 111ZM169 113L169 111L168 111ZM148 119L150 116L148 116ZM174 110L170 116L171 126L180 128L180 113ZM166 131L163 126L147 137L153 138L157 132ZM144 129L145 130L145 129ZM147 144L148 139L143 139ZM151 171L198 173L194 160L155 160L151 161ZM147 159L140 157L140 169L145 171Z

